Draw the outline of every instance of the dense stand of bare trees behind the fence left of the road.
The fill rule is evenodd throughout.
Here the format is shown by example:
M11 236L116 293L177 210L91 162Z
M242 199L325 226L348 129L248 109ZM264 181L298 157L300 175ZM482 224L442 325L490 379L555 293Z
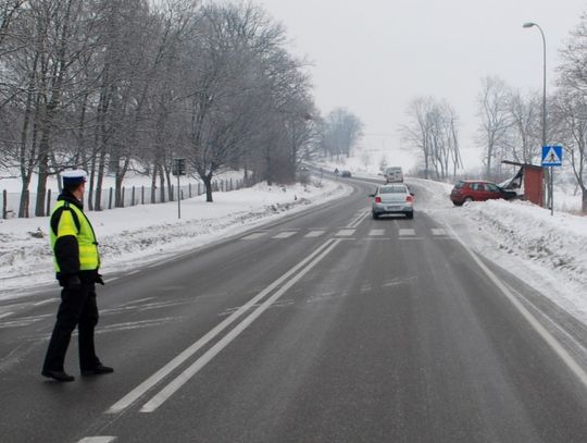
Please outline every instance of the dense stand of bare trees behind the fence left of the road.
M34 173L37 214L47 177L71 167L90 172L90 209L107 174L122 206L129 170L172 198L174 156L189 158L212 200L215 174L243 167L290 182L316 146L303 62L259 7L0 0L0 164L21 172L21 216Z

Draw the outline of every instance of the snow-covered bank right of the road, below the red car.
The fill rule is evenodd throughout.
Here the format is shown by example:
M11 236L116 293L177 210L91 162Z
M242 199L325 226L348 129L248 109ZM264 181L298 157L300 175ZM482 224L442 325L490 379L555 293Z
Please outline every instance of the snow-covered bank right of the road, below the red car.
M449 199L452 185L417 179L409 182L429 189L424 196L426 207L419 210L450 226L473 250L587 324L587 217L551 216L520 200L454 207Z

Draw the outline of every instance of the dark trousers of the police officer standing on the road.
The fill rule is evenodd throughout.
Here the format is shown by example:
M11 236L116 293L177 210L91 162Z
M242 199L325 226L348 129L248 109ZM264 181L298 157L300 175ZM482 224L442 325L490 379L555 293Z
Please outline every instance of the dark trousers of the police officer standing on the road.
M63 287L55 327L49 342L42 369L46 371L63 371L65 353L76 325L79 344L79 368L82 370L91 370L100 365L93 347L93 329L96 324L98 324L98 306L96 305L95 284L83 282L82 286L75 290Z

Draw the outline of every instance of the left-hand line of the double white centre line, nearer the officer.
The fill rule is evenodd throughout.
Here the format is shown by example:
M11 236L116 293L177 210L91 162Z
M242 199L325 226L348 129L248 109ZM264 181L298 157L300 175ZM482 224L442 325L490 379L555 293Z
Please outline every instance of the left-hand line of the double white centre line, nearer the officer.
M287 271L285 274L283 274L280 278L275 280L272 284L270 284L267 287L265 287L263 291L261 291L259 294L257 294L253 298L251 298L249 302L247 302L245 305L242 305L233 315L230 315L229 317L224 319L215 328L213 328L211 331L209 331L204 336L202 336L200 340L195 342L192 345L190 345L188 348L186 348L184 352L182 352L179 355L177 355L175 358L173 358L170 362L167 362L165 366L163 366L163 368L161 368L155 373L153 373L151 377L149 377L147 380L145 380L142 383L140 383L137 387L135 387L133 391L130 391L128 394L126 394L123 398L121 398L118 402L116 402L114 405L112 405L105 413L107 414L117 414L117 413L121 413L124 409L128 408L133 403L135 403L142 395L145 395L149 390L151 390L155 384L161 382L161 380L163 380L172 371L177 369L178 366L183 365L189 357L191 357L193 354L196 354L202 346L208 344L208 342L213 340L222 331L224 331L226 328L228 328L240 316L242 316L251 306L254 306L255 304L258 304L262 298L264 298L273 290L278 287L284 281L286 281L292 274L298 272L299 269L303 268L305 266L305 263L311 261L315 256L317 256L325 248L327 248L333 242L335 242L334 238L328 238L326 242L324 242L321 246L319 246L316 249L314 249L314 251L312 254L310 254L302 261L300 261L298 264L296 264L294 268L291 268L289 271Z

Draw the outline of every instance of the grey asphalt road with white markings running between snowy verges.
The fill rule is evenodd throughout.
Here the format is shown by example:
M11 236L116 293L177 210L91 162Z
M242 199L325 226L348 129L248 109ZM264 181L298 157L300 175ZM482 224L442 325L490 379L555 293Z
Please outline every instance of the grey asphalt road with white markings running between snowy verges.
M2 442L587 442L587 329L374 188L99 288L115 372L39 374L58 291L0 303ZM99 235L99 233L98 233Z

